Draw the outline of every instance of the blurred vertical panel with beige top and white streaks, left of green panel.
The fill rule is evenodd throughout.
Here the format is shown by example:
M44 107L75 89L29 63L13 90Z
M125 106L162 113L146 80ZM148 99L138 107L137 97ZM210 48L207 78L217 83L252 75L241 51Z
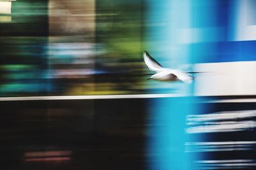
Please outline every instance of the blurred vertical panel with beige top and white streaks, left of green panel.
M47 55L54 91L93 93L95 44L95 1L49 1Z

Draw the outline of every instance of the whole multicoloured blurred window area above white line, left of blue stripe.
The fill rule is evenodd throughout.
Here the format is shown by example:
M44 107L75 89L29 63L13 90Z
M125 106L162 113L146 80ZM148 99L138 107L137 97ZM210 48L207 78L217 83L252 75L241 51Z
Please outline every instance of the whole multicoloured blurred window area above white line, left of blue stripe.
M142 0L13 1L0 96L145 93L143 13Z

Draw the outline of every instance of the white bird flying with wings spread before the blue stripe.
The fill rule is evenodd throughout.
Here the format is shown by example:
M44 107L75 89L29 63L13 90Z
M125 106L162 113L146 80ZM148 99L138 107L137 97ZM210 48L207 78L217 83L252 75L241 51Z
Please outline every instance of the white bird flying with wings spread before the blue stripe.
M161 82L186 82L191 83L193 81L193 76L189 73L192 72L182 72L182 70L164 68L161 66L156 59L152 58L150 54L145 50L143 52L143 59L145 64L148 66L150 71L154 73L148 80L153 79L155 81Z

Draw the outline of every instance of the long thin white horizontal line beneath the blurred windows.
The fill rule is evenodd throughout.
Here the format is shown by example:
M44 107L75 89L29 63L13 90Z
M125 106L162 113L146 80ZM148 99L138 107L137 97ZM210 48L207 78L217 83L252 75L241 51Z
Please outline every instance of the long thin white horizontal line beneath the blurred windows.
M27 101L27 100L97 100L122 98L168 98L185 97L179 94L140 94L140 95L78 95L78 96L40 96L40 97L0 97L0 101Z

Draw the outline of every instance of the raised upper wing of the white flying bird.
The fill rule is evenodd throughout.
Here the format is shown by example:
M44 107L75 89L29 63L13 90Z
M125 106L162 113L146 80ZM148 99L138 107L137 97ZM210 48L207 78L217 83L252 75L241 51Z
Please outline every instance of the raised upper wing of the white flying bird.
M155 72L162 72L165 70L165 68L163 68L163 66L161 66L154 58L152 58L147 51L143 52L143 58L149 70Z

